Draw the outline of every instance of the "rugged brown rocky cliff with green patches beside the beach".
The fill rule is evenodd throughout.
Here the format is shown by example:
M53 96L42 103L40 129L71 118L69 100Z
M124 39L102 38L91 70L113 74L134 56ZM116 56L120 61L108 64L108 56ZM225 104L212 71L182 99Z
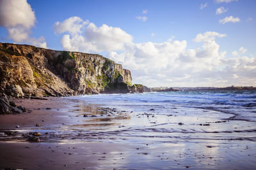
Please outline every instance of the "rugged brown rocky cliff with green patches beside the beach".
M69 96L136 92L131 73L101 55L0 43L0 92Z

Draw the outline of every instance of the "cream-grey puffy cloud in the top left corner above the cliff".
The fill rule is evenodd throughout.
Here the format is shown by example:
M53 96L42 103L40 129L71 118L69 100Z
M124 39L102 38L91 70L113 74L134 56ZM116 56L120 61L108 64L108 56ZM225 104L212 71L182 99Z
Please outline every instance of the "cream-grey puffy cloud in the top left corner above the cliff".
M26 0L0 1L0 25L7 29L9 38L17 43L26 42L47 48L43 37L38 39L29 37L35 21L35 11Z

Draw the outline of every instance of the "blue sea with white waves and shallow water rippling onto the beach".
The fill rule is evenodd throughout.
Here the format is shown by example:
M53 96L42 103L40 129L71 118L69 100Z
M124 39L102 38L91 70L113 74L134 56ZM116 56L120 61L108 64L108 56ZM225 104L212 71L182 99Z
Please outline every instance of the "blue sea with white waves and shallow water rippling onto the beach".
M90 132L100 133L97 141L256 141L255 90L97 94L71 98L118 113L118 116L101 115L86 122L92 124L87 124ZM81 113L87 114L83 111Z

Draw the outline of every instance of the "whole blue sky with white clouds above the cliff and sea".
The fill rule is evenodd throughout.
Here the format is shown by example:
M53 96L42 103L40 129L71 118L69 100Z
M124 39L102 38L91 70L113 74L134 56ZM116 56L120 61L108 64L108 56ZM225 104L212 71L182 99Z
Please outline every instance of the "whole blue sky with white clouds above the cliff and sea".
M0 41L99 53L148 87L256 86L255 0L0 0Z

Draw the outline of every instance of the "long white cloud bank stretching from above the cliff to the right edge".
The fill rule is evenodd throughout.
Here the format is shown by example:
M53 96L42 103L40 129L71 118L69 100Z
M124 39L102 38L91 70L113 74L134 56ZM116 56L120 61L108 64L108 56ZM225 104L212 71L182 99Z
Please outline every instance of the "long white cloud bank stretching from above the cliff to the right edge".
M56 22L54 31L63 34L64 50L107 52L106 57L131 70L134 83L148 87L255 85L256 57L227 57L216 42L226 36L220 32L197 34L193 41L198 47L189 49L186 40L173 38L134 43L119 27L97 27L79 17ZM239 49L239 53L245 52L245 48Z

